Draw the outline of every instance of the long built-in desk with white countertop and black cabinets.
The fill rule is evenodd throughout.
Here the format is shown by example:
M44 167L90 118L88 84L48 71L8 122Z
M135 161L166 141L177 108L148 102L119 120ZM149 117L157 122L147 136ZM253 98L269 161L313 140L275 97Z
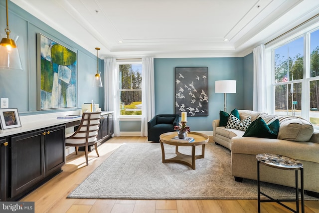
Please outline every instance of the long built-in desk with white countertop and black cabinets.
M74 130L82 118L57 117L74 113L20 116L21 127L0 130L1 202L19 200L62 171L66 129ZM113 112L102 116L100 143L113 134Z

